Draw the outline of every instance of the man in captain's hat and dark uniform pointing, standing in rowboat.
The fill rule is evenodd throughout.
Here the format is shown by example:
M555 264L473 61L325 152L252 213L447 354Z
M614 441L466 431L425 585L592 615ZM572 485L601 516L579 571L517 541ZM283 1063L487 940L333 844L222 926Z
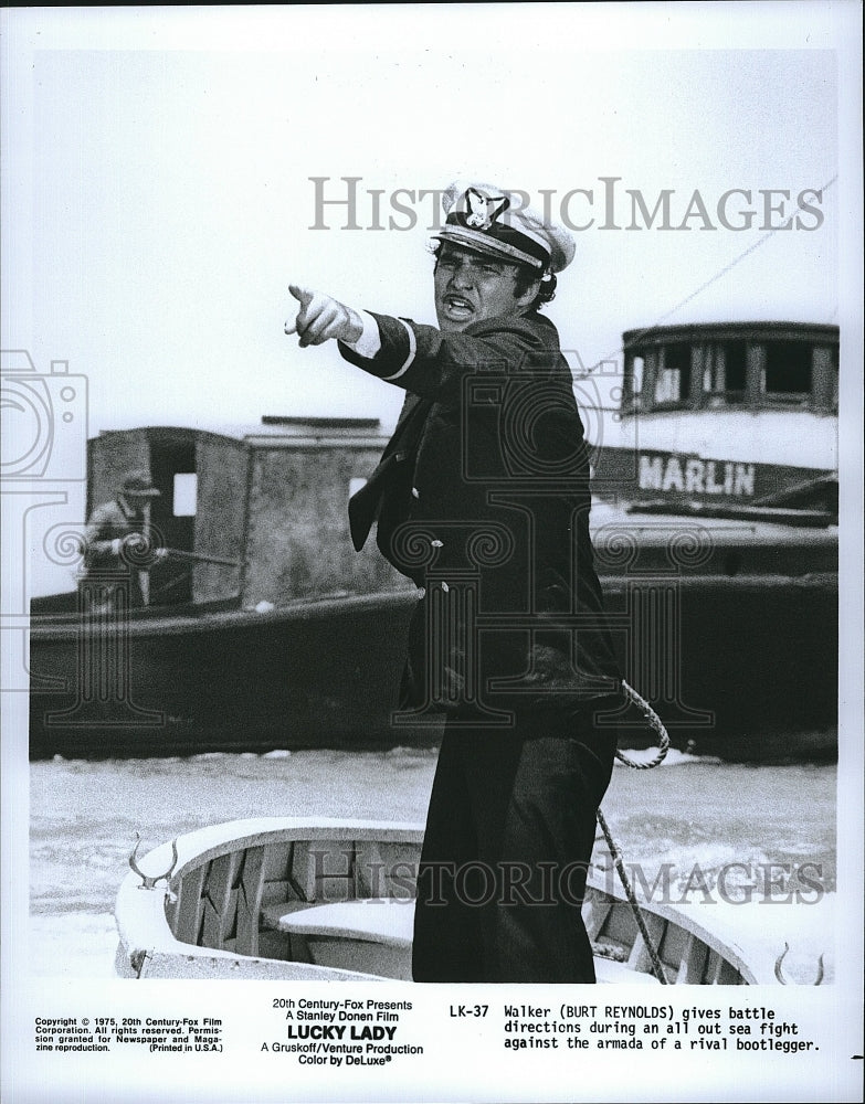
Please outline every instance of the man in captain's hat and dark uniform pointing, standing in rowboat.
M413 943L416 981L594 981L580 916L612 773L620 672L589 538L573 381L539 311L571 235L479 183L435 235L439 326L297 284L286 332L405 390L349 503L355 546L420 587L400 723L444 711ZM604 725L603 714L608 714Z

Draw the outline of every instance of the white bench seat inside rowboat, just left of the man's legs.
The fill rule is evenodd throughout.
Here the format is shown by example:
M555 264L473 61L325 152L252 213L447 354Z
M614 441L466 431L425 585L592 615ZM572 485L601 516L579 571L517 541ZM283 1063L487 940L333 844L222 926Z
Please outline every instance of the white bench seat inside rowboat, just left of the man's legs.
M277 911L283 909L283 915ZM330 901L306 909L268 905L268 920L279 932L292 935L358 940L382 946L410 949L414 928L414 901L370 898L356 901Z

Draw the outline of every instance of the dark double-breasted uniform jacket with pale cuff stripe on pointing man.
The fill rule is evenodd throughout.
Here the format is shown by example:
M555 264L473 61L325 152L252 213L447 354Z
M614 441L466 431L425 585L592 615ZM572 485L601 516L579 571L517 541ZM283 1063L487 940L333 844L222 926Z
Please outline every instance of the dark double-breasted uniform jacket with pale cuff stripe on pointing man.
M510 710L603 697L620 675L589 537L589 461L558 332L532 312L444 333L375 315L342 355L408 392L349 505L361 548L424 588L403 702Z

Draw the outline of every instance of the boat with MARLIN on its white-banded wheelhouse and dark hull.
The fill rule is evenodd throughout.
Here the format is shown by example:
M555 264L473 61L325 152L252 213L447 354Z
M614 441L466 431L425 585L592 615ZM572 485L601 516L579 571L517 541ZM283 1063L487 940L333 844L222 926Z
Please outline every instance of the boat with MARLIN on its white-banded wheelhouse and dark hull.
M666 707L674 742L698 753L834 756L838 328L654 326L626 331L622 354L621 371L600 365L577 382L595 410L593 490L626 511L627 587L660 581L644 559L655 541L681 567L677 657L658 665L661 638L632 637L631 681ZM604 537L620 522L608 530L598 505L593 517L603 573ZM665 679L676 692L665 696ZM713 723L692 714L683 729L679 702L709 709Z

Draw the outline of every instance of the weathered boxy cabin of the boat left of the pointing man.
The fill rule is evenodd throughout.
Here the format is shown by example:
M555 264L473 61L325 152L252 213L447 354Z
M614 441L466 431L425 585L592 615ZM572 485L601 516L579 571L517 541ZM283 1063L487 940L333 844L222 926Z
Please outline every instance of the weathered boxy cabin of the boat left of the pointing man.
M148 508L151 539L176 554L149 572L148 606L266 608L389 590L399 576L375 548L355 552L347 513L386 440L377 418L104 432L88 442L87 514L128 471L150 475L160 491Z

